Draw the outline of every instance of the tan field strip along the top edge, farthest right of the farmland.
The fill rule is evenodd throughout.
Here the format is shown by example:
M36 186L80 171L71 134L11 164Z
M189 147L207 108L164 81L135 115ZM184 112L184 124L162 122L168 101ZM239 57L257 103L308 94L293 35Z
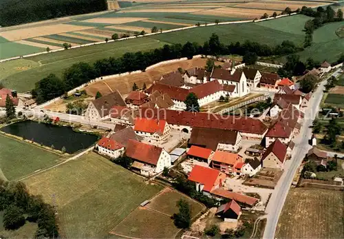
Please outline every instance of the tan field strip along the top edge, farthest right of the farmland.
M259 8L259 9L276 9L284 10L286 7L290 7L292 10L297 10L297 8L302 8L303 6L316 7L321 6L324 3L315 3L312 1L258 1L251 3L243 3L237 5L242 8Z

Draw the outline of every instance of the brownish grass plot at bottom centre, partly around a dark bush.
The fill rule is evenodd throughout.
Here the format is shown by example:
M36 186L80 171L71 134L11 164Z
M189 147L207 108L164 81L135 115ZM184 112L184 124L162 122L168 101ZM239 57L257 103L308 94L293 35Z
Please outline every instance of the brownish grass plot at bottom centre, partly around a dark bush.
M192 218L205 209L199 202L166 188L149 204L133 211L111 233L131 238L175 238L175 234L180 229L175 227L171 216L178 213L177 202L180 199L186 200L191 205Z

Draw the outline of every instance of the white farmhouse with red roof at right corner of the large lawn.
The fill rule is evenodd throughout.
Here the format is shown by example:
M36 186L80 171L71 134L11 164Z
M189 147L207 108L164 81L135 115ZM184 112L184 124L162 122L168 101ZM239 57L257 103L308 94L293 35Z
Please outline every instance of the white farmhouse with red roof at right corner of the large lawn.
M153 176L164 167L171 167L171 156L155 145L129 140L125 154L134 160L131 168L144 176Z

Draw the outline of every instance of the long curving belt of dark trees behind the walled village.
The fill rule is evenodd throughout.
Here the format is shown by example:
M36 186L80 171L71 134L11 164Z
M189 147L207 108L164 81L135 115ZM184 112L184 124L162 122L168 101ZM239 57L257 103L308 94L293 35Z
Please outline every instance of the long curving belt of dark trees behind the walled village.
M220 54L239 54L244 56L250 54L250 57L246 57L246 59L252 59L252 57L255 59L255 56L290 54L299 50L301 49L291 41L283 41L276 46L252 41L245 41L242 44L237 42L224 45L224 43L220 42L217 34L212 34L210 39L204 42L203 45L188 41L184 45L164 45L162 48L147 52L127 52L119 58L109 57L107 59L100 59L93 64L76 63L63 72L62 79L54 74L41 79L41 81L36 83L34 90L32 90L32 96L36 98L37 103L43 103L97 77L134 70L144 71L149 65L160 61L181 57L192 59L197 54L212 54L215 56ZM252 56L252 54L255 54L255 56Z

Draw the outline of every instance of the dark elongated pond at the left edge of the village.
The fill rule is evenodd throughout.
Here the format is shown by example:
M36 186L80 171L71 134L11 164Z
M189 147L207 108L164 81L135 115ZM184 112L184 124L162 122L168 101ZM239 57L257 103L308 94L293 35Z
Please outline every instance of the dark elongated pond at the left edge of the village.
M2 132L23 137L41 145L61 150L65 147L67 153L73 154L80 149L93 145L98 136L74 132L72 127L63 127L34 121L22 121L2 127Z

